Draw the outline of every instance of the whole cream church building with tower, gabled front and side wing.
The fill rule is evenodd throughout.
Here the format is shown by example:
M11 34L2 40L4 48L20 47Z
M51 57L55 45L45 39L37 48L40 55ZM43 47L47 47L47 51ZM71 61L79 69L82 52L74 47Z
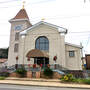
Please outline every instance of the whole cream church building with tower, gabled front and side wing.
M25 9L21 9L9 22L8 66L58 64L69 70L82 70L82 46L65 42L65 28L44 21L32 25Z

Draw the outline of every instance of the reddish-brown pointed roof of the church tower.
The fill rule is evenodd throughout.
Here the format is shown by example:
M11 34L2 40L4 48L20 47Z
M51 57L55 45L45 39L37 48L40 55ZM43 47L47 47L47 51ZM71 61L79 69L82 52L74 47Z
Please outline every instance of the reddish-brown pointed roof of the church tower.
M28 19L27 12L25 9L21 9L13 19Z

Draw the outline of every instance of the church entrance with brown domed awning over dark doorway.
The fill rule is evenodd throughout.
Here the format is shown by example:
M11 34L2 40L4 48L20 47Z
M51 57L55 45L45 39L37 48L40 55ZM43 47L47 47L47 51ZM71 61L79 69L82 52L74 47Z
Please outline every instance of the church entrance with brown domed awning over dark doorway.
M46 51L32 49L27 53L26 57L28 62L30 62L31 58L34 58L34 64L41 67L46 67L49 64L49 54Z

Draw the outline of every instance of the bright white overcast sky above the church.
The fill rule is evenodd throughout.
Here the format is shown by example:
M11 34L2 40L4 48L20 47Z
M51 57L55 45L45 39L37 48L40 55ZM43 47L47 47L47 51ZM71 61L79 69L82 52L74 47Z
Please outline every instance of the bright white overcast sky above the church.
M25 1L30 22L45 21L68 29L65 41L90 53L90 0L0 0L0 48L9 46L10 23Z

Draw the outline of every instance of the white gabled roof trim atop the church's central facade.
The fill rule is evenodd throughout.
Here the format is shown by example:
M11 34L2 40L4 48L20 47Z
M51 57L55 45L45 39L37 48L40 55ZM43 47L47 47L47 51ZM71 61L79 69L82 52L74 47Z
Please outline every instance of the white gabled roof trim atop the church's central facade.
M27 32L28 30L31 30L31 29L39 26L40 24L45 24L45 25L48 25L48 26L57 28L60 33L65 33L65 34L67 33L67 29L66 29L66 28L63 28L63 27L60 27L60 26L57 26L57 25L54 25L54 24L51 24L51 23L47 23L47 22L44 22L44 21L40 21L40 22L34 24L32 27L29 27L28 29L26 29L26 30L24 30L24 31L21 31L20 34L26 34L26 32Z

